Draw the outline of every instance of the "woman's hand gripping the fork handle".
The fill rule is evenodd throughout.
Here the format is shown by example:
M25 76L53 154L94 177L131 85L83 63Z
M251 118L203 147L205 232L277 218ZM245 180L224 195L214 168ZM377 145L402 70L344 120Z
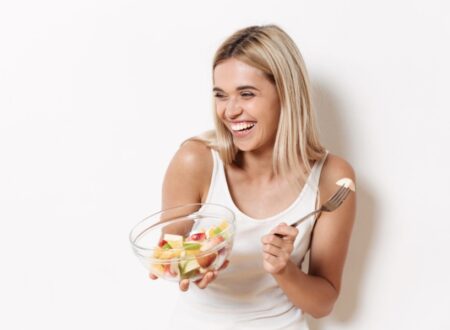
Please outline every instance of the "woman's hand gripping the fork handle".
M282 237L278 237L279 234ZM269 234L261 238L263 243L263 266L271 274L279 274L286 268L291 253L294 249L294 241L298 229L280 223Z

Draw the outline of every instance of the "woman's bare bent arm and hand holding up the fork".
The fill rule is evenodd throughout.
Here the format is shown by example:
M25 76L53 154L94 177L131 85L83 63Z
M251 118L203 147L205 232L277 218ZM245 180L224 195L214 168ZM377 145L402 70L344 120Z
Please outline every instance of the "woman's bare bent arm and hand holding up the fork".
M328 156L320 182L321 203L336 191L335 182L343 177L355 181L351 166L336 156ZM322 213L313 231L308 274L289 259L296 228L280 225L263 237L266 270L294 305L313 317L328 315L338 298L355 209L356 197L351 193L337 210Z

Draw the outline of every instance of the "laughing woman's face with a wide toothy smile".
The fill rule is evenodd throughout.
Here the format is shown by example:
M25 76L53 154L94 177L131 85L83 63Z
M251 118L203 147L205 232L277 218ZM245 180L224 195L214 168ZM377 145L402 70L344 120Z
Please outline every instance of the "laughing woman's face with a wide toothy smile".
M242 151L273 148L280 117L275 85L259 69L235 58L214 69L218 118Z

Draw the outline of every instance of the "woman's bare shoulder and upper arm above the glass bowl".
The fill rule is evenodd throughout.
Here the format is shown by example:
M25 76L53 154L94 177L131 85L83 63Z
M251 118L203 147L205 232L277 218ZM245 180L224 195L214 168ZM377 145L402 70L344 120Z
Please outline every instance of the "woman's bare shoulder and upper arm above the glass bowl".
M199 203L211 179L211 150L201 141L186 141L173 156L163 183L163 206Z

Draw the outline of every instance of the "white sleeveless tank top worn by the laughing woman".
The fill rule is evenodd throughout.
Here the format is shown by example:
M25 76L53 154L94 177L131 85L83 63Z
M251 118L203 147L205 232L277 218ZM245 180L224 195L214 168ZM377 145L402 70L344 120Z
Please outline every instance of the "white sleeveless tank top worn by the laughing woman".
M298 220L316 207L322 160L315 162L296 200L284 211L254 219L234 204L223 162L212 150L214 167L206 203L222 204L236 215L236 234L228 267L206 289L191 283L179 295L170 329L308 329L303 312L295 307L263 268L261 237L280 222ZM291 260L299 265L309 248L315 218L297 227Z

